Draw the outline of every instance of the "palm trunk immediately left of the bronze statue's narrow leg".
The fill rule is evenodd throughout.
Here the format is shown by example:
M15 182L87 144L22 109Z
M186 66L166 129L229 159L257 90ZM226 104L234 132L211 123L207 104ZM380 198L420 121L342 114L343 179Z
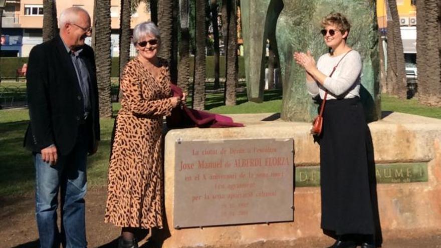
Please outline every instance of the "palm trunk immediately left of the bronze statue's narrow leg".
M237 30L237 2L229 1L228 8L228 53L227 53L227 80L225 82L225 105L236 105L236 85L238 84L238 30Z

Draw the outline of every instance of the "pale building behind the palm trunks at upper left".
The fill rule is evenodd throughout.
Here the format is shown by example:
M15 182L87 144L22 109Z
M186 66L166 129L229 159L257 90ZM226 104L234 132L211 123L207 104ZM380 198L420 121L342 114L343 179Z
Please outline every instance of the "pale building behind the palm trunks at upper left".
M111 0L110 16L112 18L112 51L113 57L119 56L119 16L120 0ZM93 1L91 0L57 0L57 15L69 7L79 6L89 12L93 20ZM140 3L132 15L132 29L138 23L150 20L144 3ZM7 0L2 17L2 57L28 57L31 49L43 42L43 0ZM90 44L90 38L86 40ZM135 53L131 47L131 53Z

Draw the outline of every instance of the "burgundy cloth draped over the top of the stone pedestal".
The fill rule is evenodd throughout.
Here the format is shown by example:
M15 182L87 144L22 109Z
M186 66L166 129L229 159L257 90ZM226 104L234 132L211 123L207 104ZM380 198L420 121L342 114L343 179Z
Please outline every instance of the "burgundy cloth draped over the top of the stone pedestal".
M171 85L173 96L182 97L182 89L176 85ZM171 116L167 117L167 126L169 128L185 127L243 127L244 124L236 123L231 117L219 114L213 114L206 111L187 108L184 104L182 108L174 108Z

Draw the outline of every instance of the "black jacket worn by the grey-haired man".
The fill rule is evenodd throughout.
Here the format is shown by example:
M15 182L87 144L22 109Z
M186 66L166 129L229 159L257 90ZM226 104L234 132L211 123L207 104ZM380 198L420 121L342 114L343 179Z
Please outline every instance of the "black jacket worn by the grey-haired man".
M87 123L89 152L100 140L98 89L94 52L85 45L81 53L90 73L91 112ZM76 142L78 126L84 122L83 96L70 55L59 36L35 46L26 74L30 124L24 145L31 151L54 144L67 155Z

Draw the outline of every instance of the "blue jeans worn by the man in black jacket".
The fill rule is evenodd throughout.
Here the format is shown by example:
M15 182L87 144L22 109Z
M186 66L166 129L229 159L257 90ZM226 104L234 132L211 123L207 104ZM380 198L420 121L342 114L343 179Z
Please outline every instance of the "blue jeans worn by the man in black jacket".
M79 135L80 137L82 135ZM67 156L55 165L34 155L36 167L36 217L41 248L87 247L85 202L87 142L78 138ZM61 235L57 226L58 191L61 199Z

